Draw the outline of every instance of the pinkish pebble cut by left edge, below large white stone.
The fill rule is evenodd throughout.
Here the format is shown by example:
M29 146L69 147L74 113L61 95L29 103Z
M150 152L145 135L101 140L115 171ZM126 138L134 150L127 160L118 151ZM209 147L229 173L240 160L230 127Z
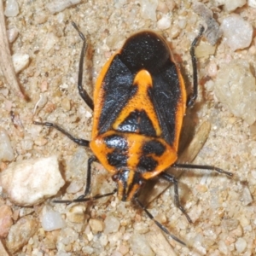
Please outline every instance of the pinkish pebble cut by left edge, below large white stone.
M13 212L11 207L6 205L0 207L0 237L8 235L9 229L13 224L12 216Z

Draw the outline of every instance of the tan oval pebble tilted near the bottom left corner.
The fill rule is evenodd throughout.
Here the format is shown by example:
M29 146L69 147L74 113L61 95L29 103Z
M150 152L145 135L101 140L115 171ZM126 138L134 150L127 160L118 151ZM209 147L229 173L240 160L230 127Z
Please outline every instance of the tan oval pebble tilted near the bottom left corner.
M32 216L20 218L9 230L6 247L10 253L17 252L38 230L38 221Z

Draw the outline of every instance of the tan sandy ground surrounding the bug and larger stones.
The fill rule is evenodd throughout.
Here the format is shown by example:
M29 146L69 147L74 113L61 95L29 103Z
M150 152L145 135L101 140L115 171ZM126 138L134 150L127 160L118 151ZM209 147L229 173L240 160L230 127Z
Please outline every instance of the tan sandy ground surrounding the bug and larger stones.
M131 33L143 29L159 31L170 42L189 86L192 78L189 45L203 23L191 8L192 2L159 1L156 20L152 20L141 15L139 1L82 1L55 15L50 14L40 1L20 1L19 15L8 18L7 26L15 26L19 30L19 37L11 45L12 52L30 56L29 66L18 76L29 100L15 96L11 88L7 88L7 95L0 96L0 125L9 133L15 160L56 154L67 186L72 181L84 181L86 166L72 163L78 154L82 154L86 161L91 154L90 149L85 148L84 151L58 131L32 125L33 119L52 121L74 136L90 140L92 113L79 97L76 87L81 40L71 25L72 20L89 42L84 88L90 95L103 64ZM176 3L175 7L173 3ZM213 3L207 3L207 6L216 12L218 20L228 15L224 9L214 7ZM255 17L253 9L248 7L236 13L247 20ZM171 26L160 31L157 20L165 15L170 18ZM247 203L250 195L255 196L256 193L255 126L233 116L205 86L208 80L214 81L214 77L207 75L209 63L215 61L218 65L226 58L242 58L253 68L256 67L255 55L251 55L248 49L234 53L220 46L215 55L201 58L199 99L192 113L188 113L189 133L196 133L203 122L209 122L212 129L207 143L194 162L218 166L233 172L234 177L212 175L207 171L183 173L180 179L181 197L193 224L189 224L174 206L172 187L148 205L154 217L172 234L186 241L188 247L163 236L144 212L131 203L119 202L114 195L103 201L84 204L86 218L83 224L68 221L63 213L66 206L56 206L51 200L32 208L31 214L38 219L38 231L15 255L255 255L256 205L254 201ZM6 88L4 84L1 86ZM39 106L33 115L40 96L46 104L42 108ZM22 126L15 128L10 110L15 112ZM2 169L7 165L2 163ZM114 183L108 172L99 164L93 168L92 194L111 190ZM65 195L67 186L56 197ZM76 195L65 196L75 198L82 190ZM3 197L3 200L19 215L20 207L12 205L8 198ZM67 224L63 230L44 232L41 228L39 217L46 205L63 213ZM99 233L91 231L90 219L104 222L108 216L113 216L115 222L120 224L118 230L111 233L106 230ZM49 243L49 240L54 242ZM142 247L144 253L140 253Z

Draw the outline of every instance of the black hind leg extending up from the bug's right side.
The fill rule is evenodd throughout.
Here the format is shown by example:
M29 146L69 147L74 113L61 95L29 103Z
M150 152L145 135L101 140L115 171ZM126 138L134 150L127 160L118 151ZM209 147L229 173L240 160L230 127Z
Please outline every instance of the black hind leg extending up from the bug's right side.
M188 99L187 99L188 107L192 107L197 98L198 77L197 77L197 60L195 57L195 46L198 43L199 39L201 38L201 35L204 32L204 30L205 30L205 28L203 26L201 26L199 34L194 39L194 41L192 42L191 47L190 47L190 55L191 55L192 68L193 68L193 92L188 96Z

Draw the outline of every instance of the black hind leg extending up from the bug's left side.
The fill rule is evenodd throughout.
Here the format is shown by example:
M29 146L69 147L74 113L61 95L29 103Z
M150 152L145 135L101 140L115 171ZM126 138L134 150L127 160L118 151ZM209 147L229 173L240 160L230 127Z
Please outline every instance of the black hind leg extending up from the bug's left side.
M84 37L84 34L79 31L79 27L72 21L73 27L76 29L77 32L79 32L79 37L83 40L83 46L81 49L80 54L80 61L79 61L79 79L78 79L78 88L79 88L79 95L82 97L84 102L90 107L91 110L93 110L93 101L90 98L89 94L86 90L84 90L83 87L83 67L84 67L84 55L86 53L87 49L87 43L86 39Z

